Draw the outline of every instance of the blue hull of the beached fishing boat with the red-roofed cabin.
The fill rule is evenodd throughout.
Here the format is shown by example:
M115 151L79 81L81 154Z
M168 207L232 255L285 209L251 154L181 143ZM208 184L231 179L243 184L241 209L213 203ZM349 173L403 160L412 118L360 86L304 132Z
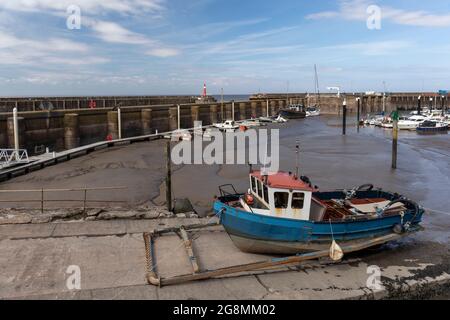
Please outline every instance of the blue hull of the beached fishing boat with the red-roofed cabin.
M229 207L216 201L214 211L235 245L245 252L292 254L323 250L333 239L355 243L392 234L396 225L411 221L411 230L419 228L423 210L414 215L372 218L359 221L314 222L263 216ZM414 219L414 221L412 221Z

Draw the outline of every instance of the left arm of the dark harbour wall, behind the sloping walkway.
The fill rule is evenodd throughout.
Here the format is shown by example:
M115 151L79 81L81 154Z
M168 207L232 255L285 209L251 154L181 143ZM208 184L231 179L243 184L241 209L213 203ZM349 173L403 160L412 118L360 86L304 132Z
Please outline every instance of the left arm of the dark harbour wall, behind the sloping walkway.
M204 125L226 119L248 119L275 115L286 106L285 100L232 103L197 103L180 105L180 127L192 128L194 121ZM29 153L45 148L62 151L107 139L119 138L117 108L71 109L19 112L20 147ZM133 106L120 108L122 138L167 132L178 128L178 107ZM11 113L0 113L0 146L13 148L14 124Z

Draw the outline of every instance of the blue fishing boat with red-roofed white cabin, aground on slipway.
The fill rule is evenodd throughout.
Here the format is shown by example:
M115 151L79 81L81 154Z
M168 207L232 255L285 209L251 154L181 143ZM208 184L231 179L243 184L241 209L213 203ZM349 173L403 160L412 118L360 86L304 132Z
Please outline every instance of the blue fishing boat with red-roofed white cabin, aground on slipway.
M424 210L397 193L364 185L320 192L307 177L251 171L250 188L221 186L214 211L242 251L299 254L326 250L333 241L355 245L421 230Z

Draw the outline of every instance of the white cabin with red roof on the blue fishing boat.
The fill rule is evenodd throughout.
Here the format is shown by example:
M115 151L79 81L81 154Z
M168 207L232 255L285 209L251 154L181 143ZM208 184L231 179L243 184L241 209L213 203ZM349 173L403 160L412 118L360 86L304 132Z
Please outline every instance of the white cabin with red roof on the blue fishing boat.
M265 176L256 171L250 174L249 193L241 199L241 205L246 211L261 215L309 220L314 191L317 190L293 174Z

